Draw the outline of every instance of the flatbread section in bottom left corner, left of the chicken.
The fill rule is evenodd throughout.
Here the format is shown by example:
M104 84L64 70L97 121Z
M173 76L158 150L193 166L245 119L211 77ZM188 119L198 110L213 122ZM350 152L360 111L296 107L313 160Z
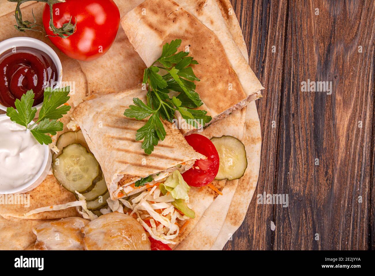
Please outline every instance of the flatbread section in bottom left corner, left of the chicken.
M32 228L40 223L52 220L5 219L0 216L0 250L32 249L36 235Z

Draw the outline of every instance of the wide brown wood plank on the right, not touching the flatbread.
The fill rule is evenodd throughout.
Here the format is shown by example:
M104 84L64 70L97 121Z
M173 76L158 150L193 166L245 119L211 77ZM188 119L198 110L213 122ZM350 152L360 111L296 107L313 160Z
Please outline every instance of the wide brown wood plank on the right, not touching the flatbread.
M276 206L273 249L368 249L375 2L290 1L288 14L275 190L290 204ZM332 95L302 92L308 79Z

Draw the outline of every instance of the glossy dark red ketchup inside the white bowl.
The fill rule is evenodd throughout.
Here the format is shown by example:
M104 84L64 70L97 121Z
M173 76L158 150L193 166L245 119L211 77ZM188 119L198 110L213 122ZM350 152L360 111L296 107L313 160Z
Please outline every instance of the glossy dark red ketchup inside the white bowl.
M57 81L57 68L46 53L28 47L17 47L0 55L0 103L15 107L28 90L35 94L33 106L42 103L44 88Z

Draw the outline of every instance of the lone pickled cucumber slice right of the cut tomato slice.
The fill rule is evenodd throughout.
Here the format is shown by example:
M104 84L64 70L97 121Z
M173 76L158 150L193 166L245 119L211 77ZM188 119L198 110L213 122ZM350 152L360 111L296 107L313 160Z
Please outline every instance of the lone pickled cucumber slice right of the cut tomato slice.
M219 154L220 165L216 180L239 179L248 167L245 146L233 136L221 136L211 138L217 153Z

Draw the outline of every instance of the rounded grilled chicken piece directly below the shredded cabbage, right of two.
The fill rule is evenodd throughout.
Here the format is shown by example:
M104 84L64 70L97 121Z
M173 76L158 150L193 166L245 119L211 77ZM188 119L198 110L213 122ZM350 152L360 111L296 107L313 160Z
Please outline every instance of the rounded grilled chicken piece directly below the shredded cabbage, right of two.
M126 214L102 215L89 222L83 232L86 250L151 250L141 224Z

